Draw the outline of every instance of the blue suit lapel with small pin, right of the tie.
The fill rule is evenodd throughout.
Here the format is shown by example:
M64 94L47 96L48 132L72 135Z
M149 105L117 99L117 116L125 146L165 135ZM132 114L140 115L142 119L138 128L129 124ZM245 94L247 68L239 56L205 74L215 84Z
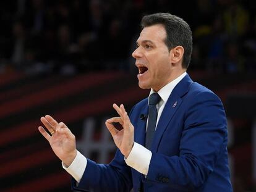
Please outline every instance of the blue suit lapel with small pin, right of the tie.
M189 86L193 83L189 75L186 75L174 88L166 102L160 120L156 127L151 151L156 152L163 136L164 130L168 127L169 122L173 119L173 115L182 103L182 96L187 93Z

